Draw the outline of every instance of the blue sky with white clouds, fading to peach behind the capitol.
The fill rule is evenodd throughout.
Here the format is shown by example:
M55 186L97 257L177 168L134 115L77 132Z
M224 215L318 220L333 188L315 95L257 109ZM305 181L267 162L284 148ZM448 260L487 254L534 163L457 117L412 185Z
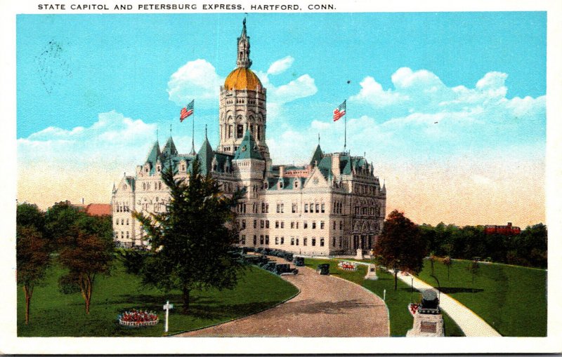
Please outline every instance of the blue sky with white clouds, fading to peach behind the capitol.
M193 98L195 144L207 123L215 146L218 85L235 67L243 16L18 15L18 196L37 196L26 170L43 163L65 168L63 186L100 166L99 182L68 199L108 198L157 127L163 143L173 123L178 149L190 149L190 123L178 114ZM521 189L516 181L544 181L546 22L544 12L250 13L251 69L268 88L274 163L306 161L318 133L322 148L341 151L343 123L330 117L348 99L348 147L366 152L401 192L389 208L434 223L437 215L407 202L425 197L414 193L420 185L452 185L444 173L455 173L496 200L474 220L509 220L521 207L492 210ZM540 187L525 198L542 207L532 220L544 220ZM459 224L462 204L435 202Z

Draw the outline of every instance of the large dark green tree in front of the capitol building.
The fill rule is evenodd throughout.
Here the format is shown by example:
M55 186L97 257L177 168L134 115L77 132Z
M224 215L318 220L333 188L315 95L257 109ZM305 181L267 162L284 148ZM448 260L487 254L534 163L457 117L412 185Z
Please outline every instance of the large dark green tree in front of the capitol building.
M238 241L233 208L241 196L226 196L211 175L203 176L200 161L192 164L189 182L164 170L170 189L166 212L134 212L145 229L152 251L141 274L145 284L162 290L177 288L187 314L190 292L204 288L233 288L242 265L229 254Z

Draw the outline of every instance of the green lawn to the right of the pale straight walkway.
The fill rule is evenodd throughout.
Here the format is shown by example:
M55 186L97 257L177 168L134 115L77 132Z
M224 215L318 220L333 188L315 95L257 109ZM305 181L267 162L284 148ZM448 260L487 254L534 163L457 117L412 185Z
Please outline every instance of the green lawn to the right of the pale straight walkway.
M480 263L473 286L469 263L454 260L450 278L443 264L434 263L442 292L462 302L504 336L547 335L546 270ZM430 275L431 265L426 261L419 278L437 285Z

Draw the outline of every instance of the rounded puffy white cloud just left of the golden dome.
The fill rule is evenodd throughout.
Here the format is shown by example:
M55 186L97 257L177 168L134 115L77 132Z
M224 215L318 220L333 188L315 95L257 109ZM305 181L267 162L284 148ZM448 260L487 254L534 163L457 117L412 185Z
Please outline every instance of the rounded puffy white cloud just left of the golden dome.
M177 105L195 99L201 105L218 102L218 88L224 82L216 69L206 60L187 62L170 76L168 95Z

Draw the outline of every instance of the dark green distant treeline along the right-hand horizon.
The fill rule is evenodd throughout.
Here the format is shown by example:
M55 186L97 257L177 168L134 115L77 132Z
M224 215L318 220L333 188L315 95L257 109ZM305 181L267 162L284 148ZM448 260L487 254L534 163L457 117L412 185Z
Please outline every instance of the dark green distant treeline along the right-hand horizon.
M535 224L521 234L504 236L485 234L484 226L457 227L441 222L433 227L421 224L419 231L428 244L428 252L440 257L491 260L525 267L547 267L547 226Z

